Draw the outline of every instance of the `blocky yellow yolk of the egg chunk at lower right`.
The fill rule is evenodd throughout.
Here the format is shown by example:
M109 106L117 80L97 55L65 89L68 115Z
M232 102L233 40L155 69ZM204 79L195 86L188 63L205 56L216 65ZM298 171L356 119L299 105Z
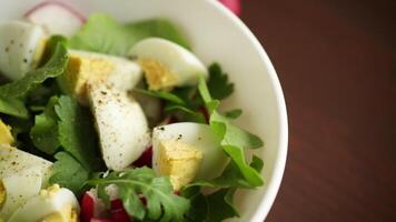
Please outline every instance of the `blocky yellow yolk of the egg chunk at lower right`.
M159 173L169 176L174 189L178 191L196 178L202 152L178 141L161 141L159 147Z

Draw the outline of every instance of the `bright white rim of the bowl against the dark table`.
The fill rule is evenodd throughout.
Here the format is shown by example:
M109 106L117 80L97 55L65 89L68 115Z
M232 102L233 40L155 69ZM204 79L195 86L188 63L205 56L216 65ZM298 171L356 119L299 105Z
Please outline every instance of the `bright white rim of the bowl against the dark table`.
M251 32L251 30L236 14L234 14L230 10L224 7L219 1L217 0L205 0L205 1L210 6L212 6L219 13L226 16L227 19L231 20L238 27L238 29L240 29L244 32L244 34L249 39L249 41L254 44L255 50L258 52L261 61L267 67L270 83L274 85L277 107L279 110L278 151L276 154L276 161L275 161L271 179L267 186L266 198L260 201L256 212L253 214L250 219L251 222L261 222L267 218L269 210L274 204L275 198L280 188L280 183L286 167L287 150L288 150L287 148L288 147L288 119L287 119L287 108L286 108L284 92L278 75L276 73L276 70L273 65L273 62L270 61L264 47L258 41L256 36Z

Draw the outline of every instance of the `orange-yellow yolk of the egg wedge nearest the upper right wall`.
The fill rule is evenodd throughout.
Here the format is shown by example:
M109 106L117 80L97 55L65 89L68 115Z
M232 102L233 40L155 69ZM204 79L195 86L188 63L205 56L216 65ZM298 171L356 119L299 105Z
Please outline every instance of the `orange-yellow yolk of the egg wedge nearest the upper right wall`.
M161 62L154 59L139 59L138 63L145 71L150 90L170 89L177 85L178 78Z

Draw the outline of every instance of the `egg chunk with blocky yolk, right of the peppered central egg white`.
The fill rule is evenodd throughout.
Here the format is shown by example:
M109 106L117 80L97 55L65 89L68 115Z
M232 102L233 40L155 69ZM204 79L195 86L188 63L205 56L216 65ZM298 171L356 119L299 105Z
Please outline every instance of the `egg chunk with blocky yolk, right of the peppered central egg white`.
M154 170L174 176L175 189L194 179L214 179L228 162L219 138L206 124L181 122L157 127L152 149Z

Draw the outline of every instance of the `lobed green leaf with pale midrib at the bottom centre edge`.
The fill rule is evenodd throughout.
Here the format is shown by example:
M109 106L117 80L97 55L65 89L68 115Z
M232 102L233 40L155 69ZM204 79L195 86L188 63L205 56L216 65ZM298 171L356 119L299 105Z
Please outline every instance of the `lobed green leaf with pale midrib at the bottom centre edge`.
M126 211L138 220L182 221L184 214L189 209L187 199L174 194L170 180L157 178L154 170L149 168L110 172L106 178L89 180L87 184L97 185L99 198L107 204L109 204L109 196L106 188L110 184L117 185ZM146 208L139 194L146 198Z

